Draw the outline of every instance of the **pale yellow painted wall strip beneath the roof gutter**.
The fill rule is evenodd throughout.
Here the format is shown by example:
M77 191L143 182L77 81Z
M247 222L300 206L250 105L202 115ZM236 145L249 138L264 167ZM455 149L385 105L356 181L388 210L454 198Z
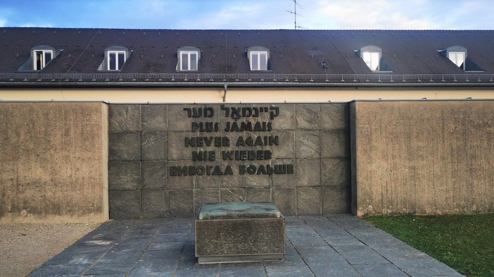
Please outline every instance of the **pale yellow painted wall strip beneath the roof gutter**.
M347 102L357 99L494 99L494 89L228 88L226 102ZM1 100L107 101L111 103L218 103L223 88L190 89L2 89Z

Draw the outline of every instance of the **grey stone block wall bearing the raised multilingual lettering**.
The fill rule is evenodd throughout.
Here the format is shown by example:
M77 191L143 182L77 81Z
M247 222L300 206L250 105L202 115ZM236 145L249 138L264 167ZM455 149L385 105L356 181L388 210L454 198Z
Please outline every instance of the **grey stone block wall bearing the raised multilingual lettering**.
M258 116L252 116L256 109ZM110 218L192 217L203 203L231 201L274 201L285 215L350 212L349 116L347 103L110 104ZM212 132L201 129L206 122ZM270 131L233 127L257 122ZM185 138L197 137L230 145L214 146L213 140L210 146L185 146ZM237 146L239 137L260 140ZM277 145L260 145L275 137ZM232 150L269 153L262 160L224 159L222 151ZM193 160L193 151L206 151L206 160ZM207 151L214 151L214 159ZM173 171L208 165L211 174ZM275 165L293 165L293 172L261 170ZM212 173L216 166L222 174ZM249 166L255 172L243 173ZM225 174L227 168L232 174Z

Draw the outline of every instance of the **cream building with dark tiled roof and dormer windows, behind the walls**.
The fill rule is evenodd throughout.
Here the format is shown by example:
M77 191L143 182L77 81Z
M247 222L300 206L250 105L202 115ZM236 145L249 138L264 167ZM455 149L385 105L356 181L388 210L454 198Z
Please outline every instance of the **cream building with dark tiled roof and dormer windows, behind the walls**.
M493 31L1 28L0 36L2 100L485 99L494 82Z

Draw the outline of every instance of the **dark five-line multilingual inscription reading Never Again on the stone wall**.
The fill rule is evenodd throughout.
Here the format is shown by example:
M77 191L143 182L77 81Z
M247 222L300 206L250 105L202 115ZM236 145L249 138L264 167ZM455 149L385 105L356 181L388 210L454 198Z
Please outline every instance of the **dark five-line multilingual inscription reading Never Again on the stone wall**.
M262 146L277 146L280 144L279 136L273 135L258 135L248 136L244 135L246 132L252 132L253 134L264 134L264 132L271 132L273 130L273 122L279 114L279 106L255 106L255 107L234 107L222 104L220 106L220 116L224 114L225 118L232 121L214 122L207 121L208 118L214 116L215 111L213 107L184 107L184 116L188 118L194 118L198 121L191 123L191 133L205 134L200 137L185 137L184 146L186 149L192 147L213 147L215 150L190 150L192 161L249 161L249 160L265 160L266 164L258 165L239 165L238 169L233 169L231 165L224 167L218 164L204 165L185 165L185 166L170 166L170 176L186 176L186 175L233 175L234 171L237 174L293 174L293 164L273 164L269 161L273 155L271 150L263 149ZM259 114L268 113L270 121L258 121ZM254 121L240 121L239 119L253 118ZM204 120L204 121L199 121ZM241 134L232 141L227 136L207 136L207 134L213 132L233 132L235 134ZM257 133L263 132L263 133ZM245 149L246 146L258 147L256 150ZM233 147L233 150L232 150Z

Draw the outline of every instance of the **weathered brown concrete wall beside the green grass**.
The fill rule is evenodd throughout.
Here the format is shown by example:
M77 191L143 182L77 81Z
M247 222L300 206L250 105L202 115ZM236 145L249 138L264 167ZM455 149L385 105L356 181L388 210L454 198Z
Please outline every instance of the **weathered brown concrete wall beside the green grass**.
M352 211L494 211L494 101L351 105Z

